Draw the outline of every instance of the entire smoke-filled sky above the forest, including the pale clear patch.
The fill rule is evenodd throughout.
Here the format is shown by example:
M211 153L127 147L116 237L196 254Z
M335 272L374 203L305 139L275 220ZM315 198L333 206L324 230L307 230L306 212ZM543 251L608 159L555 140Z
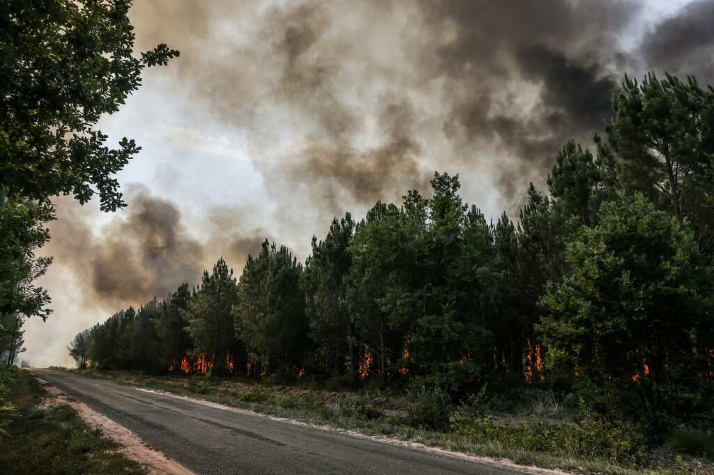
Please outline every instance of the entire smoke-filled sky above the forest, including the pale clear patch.
M714 0L136 0L130 18L137 53L181 56L99 123L142 147L118 176L127 207L54 200L36 367L69 366L76 333L218 257L239 274L268 238L304 260L333 217L428 193L435 170L517 218L566 141L592 146L625 73L714 83Z

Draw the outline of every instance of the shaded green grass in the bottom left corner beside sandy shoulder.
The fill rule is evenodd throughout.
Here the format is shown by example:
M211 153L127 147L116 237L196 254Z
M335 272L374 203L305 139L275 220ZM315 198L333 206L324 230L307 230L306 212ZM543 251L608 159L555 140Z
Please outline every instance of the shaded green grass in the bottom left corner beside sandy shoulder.
M10 384L16 414L0 436L0 470L14 474L145 474L66 404L38 409L44 389L24 370Z

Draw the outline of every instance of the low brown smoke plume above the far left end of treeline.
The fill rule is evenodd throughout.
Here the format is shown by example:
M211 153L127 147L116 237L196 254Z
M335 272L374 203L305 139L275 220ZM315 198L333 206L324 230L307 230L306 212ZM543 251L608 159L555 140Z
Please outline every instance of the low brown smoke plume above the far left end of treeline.
M198 283L218 257L242 267L267 236L261 230L241 230L239 215L214 209L206 210L204 234L209 237L199 240L188 233L174 203L138 186L130 187L128 196L126 211L99 230L94 225L101 217L89 206L56 200L58 220L50 224L46 252L81 282L78 293L86 307L111 311L164 298L183 282Z

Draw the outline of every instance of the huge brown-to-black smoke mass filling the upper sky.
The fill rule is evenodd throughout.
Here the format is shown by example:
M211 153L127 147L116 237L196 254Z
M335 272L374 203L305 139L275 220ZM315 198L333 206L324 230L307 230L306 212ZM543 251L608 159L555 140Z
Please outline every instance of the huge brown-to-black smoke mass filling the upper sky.
M271 193L326 210L322 222L423 190L436 169L496 175L503 207L519 203L565 141L602 126L617 40L640 9L144 1L131 14L141 47L181 50L176 93L248 131Z

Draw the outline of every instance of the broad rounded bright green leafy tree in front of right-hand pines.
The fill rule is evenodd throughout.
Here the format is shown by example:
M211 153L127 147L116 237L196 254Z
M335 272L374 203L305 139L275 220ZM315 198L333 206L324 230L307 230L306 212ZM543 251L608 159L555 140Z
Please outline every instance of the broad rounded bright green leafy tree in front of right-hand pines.
M598 225L568 245L570 271L541 300L550 358L623 384L646 365L645 389L690 377L705 351L701 336L712 334L700 293L711 290L698 284L695 255L691 233L644 195L603 203Z

